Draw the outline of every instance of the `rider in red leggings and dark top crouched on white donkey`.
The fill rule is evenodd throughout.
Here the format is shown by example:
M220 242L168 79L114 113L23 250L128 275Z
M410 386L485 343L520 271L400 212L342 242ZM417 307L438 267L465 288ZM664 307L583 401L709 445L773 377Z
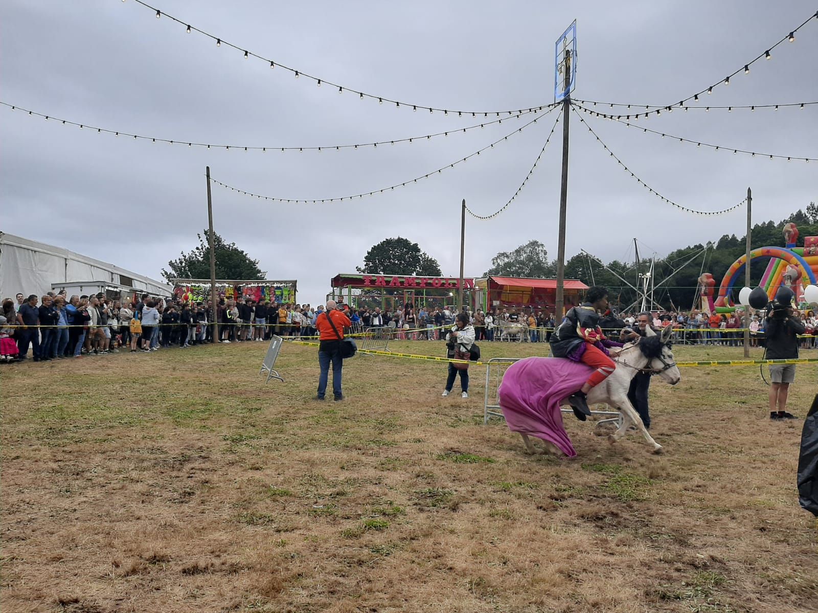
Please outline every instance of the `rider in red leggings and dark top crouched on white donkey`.
M588 408L587 395L591 387L596 387L616 369L608 349L623 347L622 342L605 338L600 329L599 311L608 309L608 289L600 286L588 289L585 302L573 307L565 315L560 327L551 335L551 353L555 357L564 357L575 362L582 362L595 369L582 389L568 397L573 414L583 422L591 414ZM618 351L613 352L613 356Z

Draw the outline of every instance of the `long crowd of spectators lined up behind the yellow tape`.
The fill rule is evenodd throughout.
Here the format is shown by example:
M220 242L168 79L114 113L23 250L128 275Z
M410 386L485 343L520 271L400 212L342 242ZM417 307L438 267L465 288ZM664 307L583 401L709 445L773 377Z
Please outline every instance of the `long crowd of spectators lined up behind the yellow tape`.
M343 303L341 303L343 306ZM95 296L47 293L42 297L22 293L2 301L0 315L0 362L59 360L68 357L106 356L119 351L159 351L209 342L260 342L273 334L288 338L313 337L316 319L323 306L280 304L251 298L220 299L215 309L209 300L182 302L178 297L152 298L143 294L136 302ZM457 315L449 307L418 306L407 302L394 310L380 307L350 309L351 333L371 328L394 330L394 338L441 340ZM530 307L506 307L491 311L467 312L474 326L475 340L501 340L500 329L524 329L524 340L549 342L555 327L553 314ZM743 343L744 315L701 311L653 311L654 327L676 329L676 342L736 347ZM802 314L807 333L802 347L816 347L818 320L813 311ZM213 322L218 321L218 338L213 338ZM636 314L605 313L602 329L616 331L633 326ZM750 342L757 346L764 333L764 318L753 313Z

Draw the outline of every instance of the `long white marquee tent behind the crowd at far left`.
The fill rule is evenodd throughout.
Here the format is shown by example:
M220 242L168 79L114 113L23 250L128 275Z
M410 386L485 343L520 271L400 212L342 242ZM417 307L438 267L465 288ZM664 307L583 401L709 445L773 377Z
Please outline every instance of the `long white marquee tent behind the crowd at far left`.
M42 296L52 287L78 281L101 286L115 284L155 296L170 296L173 287L100 262L68 249L0 232L0 298L17 292Z

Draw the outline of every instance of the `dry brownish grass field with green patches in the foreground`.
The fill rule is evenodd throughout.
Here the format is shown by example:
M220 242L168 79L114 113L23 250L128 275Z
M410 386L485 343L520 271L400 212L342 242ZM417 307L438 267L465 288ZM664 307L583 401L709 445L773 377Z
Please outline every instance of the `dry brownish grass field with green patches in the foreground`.
M569 416L560 460L483 426L482 368L442 398L445 364L359 356L318 402L317 350L265 385L265 349L0 368L3 613L818 610L801 422L770 422L757 367L655 380L662 456ZM705 356L741 350L676 347Z

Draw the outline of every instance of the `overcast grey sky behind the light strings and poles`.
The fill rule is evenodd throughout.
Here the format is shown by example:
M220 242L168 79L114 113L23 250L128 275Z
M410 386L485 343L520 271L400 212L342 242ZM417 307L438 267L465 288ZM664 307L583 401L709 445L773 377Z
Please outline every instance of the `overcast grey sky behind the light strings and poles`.
M574 98L672 104L717 83L816 11L815 2L217 2L155 0L200 29L303 72L375 96L447 109L511 110L554 101L554 42L576 18ZM627 7L623 8L623 7ZM5 0L0 98L62 119L178 141L309 146L389 141L474 119L360 101L317 87L133 0ZM818 101L818 20L770 61L703 96L708 105ZM599 107L598 107L599 108ZM551 130L552 113L427 181L340 204L281 204L213 190L217 232L258 258L270 279L299 280L323 301L380 240L403 236L459 267L460 202L492 213L514 194ZM512 121L514 123L512 123ZM0 230L70 248L160 279L207 226L214 178L284 198L330 198L406 181L462 159L524 123L376 150L244 152L115 138L0 108ZM818 163L750 158L589 119L633 172L689 208L726 208L753 188L754 221L818 200ZM640 124L644 123L640 119ZM748 150L818 157L818 105L703 110L652 117L663 132ZM529 239L557 251L561 123L510 208L466 219L465 273ZM661 256L744 234L745 211L682 213L650 195L571 118L568 256L632 257L634 237Z

